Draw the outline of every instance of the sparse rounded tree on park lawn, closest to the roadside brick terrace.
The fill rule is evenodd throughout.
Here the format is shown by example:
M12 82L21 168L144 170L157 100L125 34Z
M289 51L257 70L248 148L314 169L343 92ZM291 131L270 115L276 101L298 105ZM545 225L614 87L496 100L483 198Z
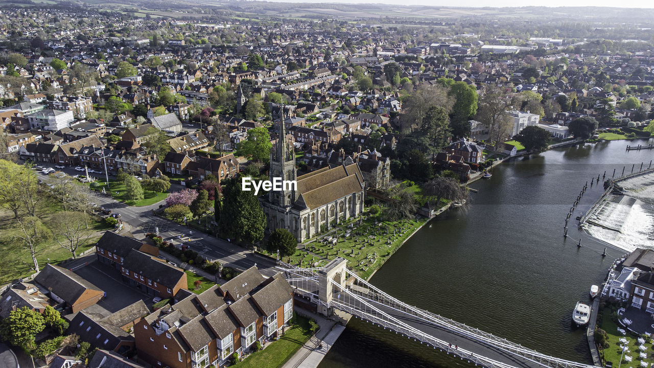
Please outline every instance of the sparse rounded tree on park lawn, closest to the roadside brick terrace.
M93 236L95 230L86 225L86 217L78 212L59 212L50 222L54 240L77 259L77 248Z

